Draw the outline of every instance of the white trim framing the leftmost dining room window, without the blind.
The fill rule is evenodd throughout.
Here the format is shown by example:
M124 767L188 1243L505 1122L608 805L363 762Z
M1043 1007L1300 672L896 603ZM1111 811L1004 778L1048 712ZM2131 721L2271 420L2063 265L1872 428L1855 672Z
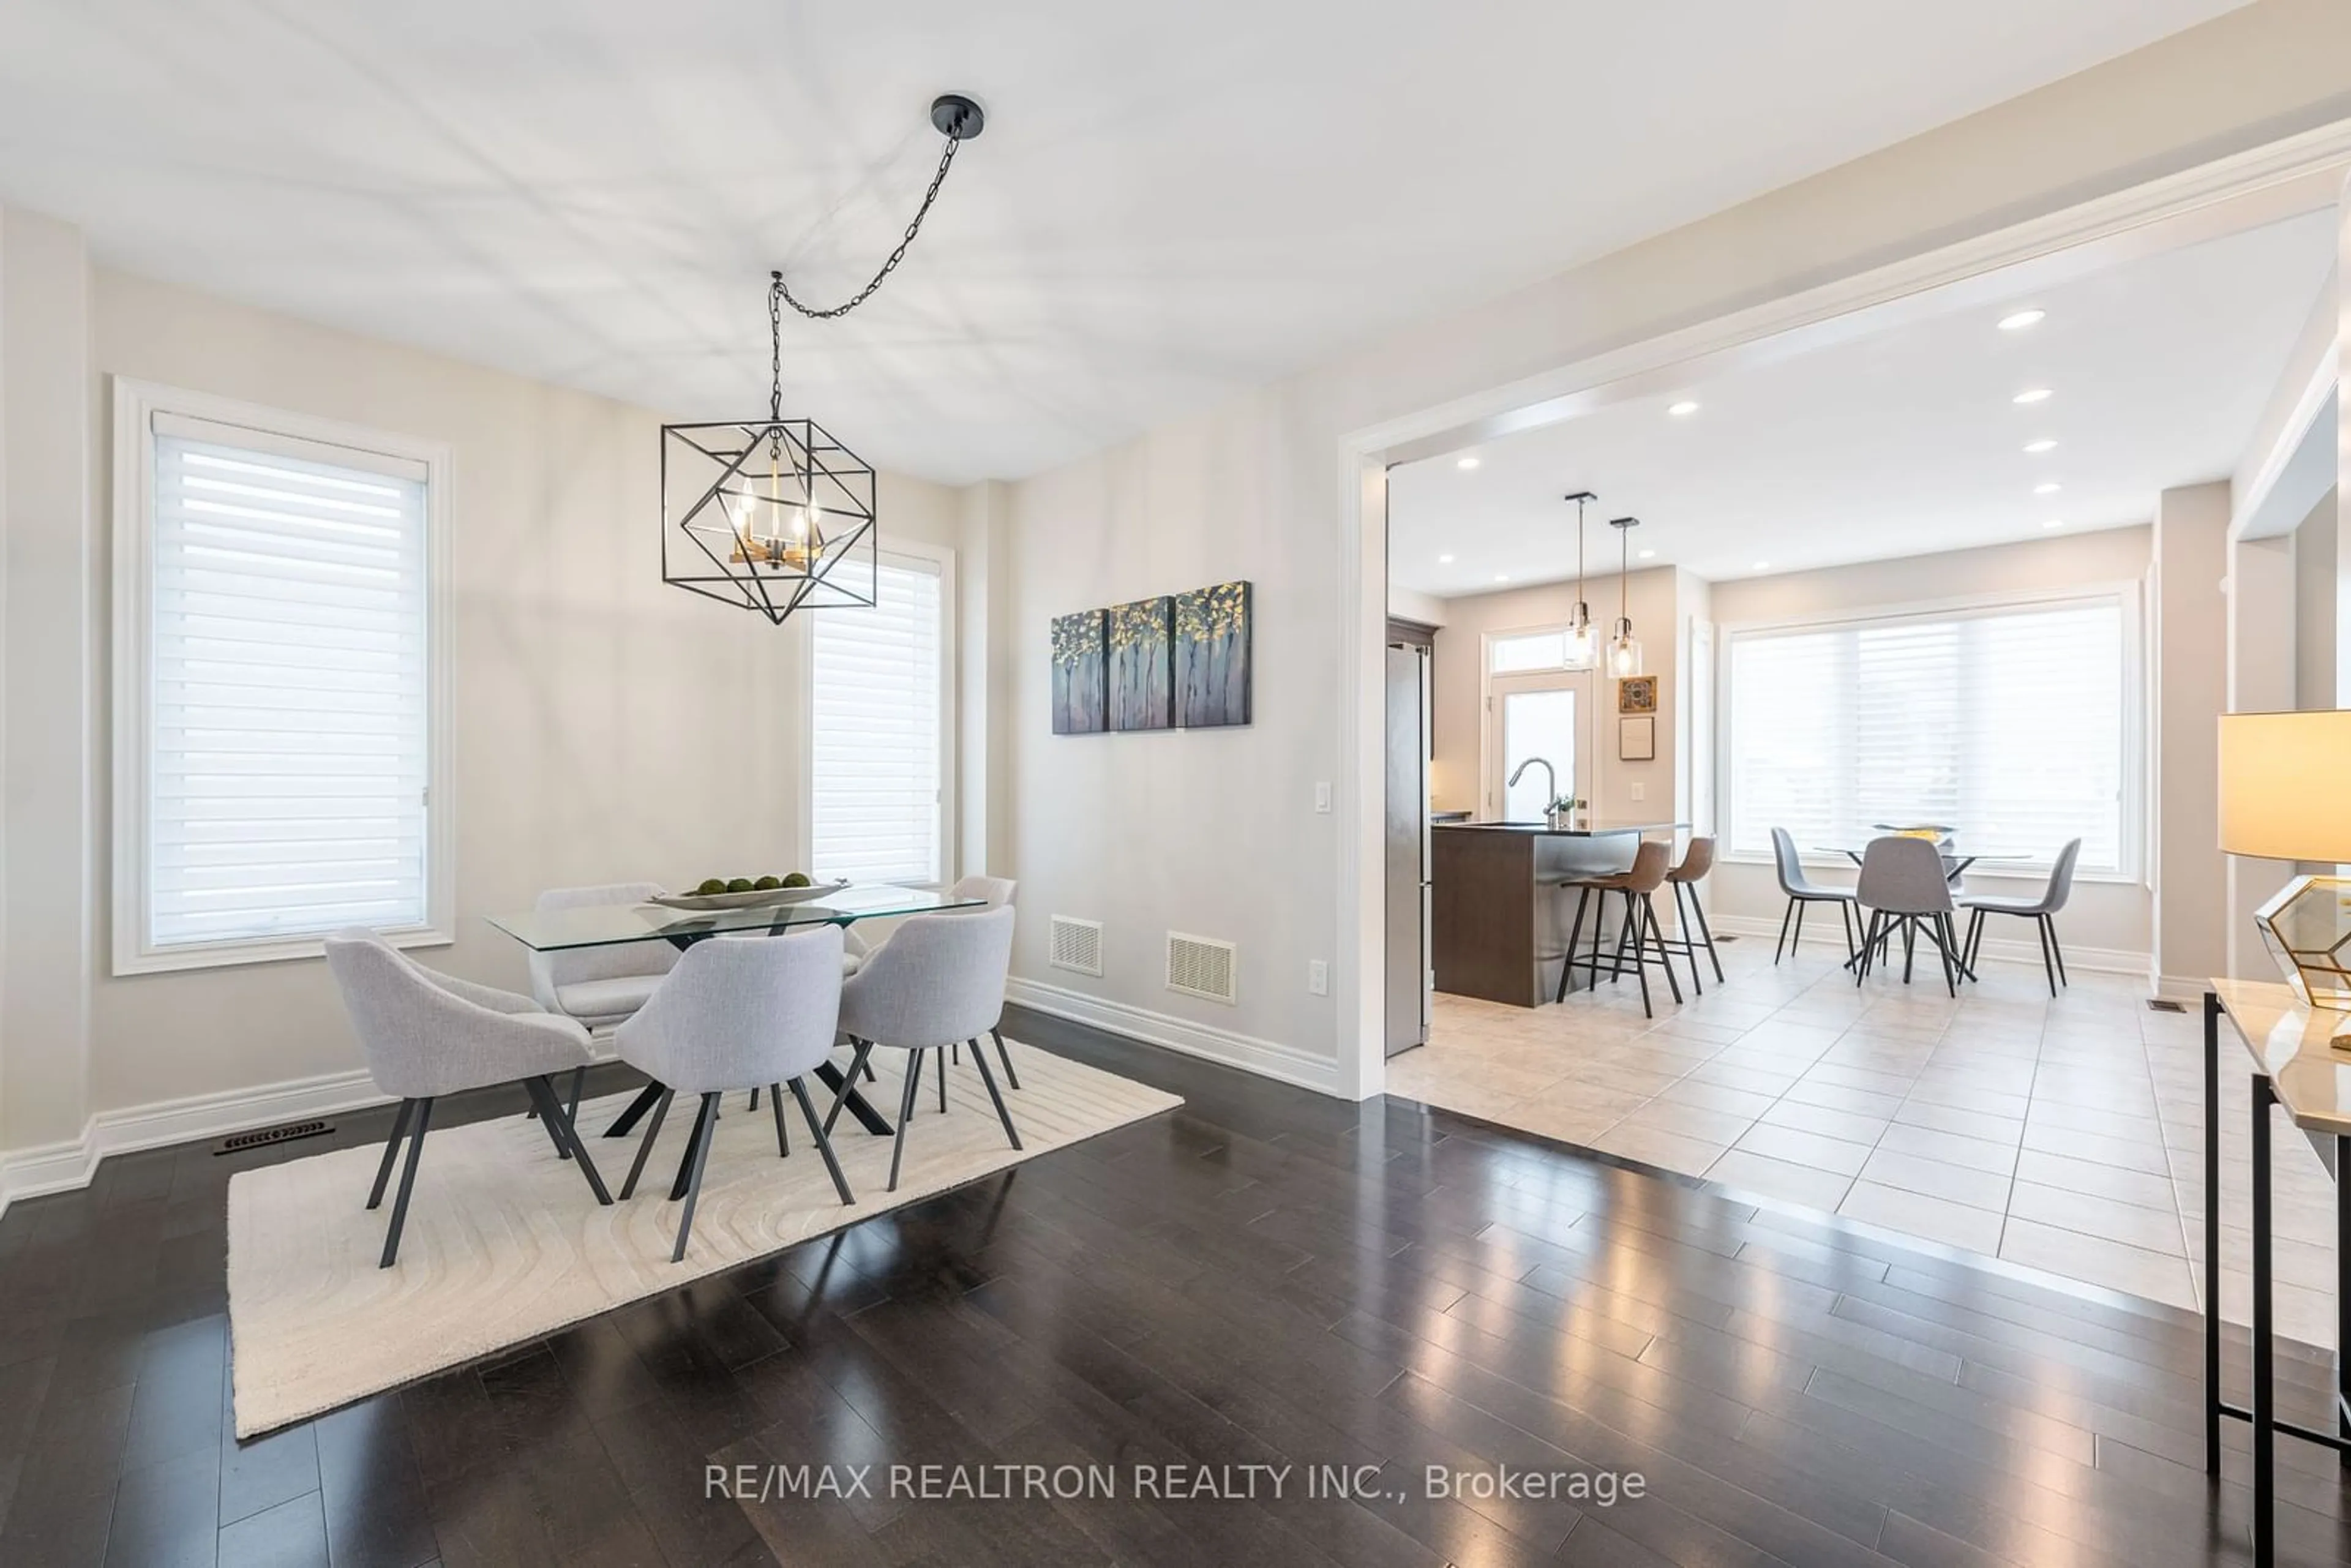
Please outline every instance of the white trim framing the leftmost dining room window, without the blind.
M113 378L115 390L115 581L113 581L113 973L143 976L228 964L277 964L324 954L320 936L268 936L221 943L148 943L148 630L153 625L155 414L183 414L256 435L294 437L355 454L426 465L426 922L386 929L397 947L456 940L456 757L451 745L449 668L449 517L454 458L444 442L390 435L308 414L287 414L212 393Z

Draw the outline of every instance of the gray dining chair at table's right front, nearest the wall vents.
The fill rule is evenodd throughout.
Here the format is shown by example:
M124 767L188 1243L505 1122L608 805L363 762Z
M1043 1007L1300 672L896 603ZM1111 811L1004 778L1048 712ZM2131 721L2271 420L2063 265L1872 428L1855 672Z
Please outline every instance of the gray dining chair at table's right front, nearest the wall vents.
M889 1190L898 1190L905 1159L905 1124L915 1119L915 1093L922 1088L922 1058L931 1053L938 1072L938 1110L947 1110L947 1048L969 1044L980 1070L980 1084L997 1107L1004 1135L1020 1147L1013 1117L997 1093L997 1074L978 1037L1004 1013L1004 976L1013 961L1011 907L976 914L917 914L896 936L875 947L849 985L842 987L842 1032L856 1058L842 1093L825 1117L830 1126L842 1114L842 1100L858 1072L870 1065L877 1046L905 1051L905 1088L898 1095L898 1138L889 1157Z

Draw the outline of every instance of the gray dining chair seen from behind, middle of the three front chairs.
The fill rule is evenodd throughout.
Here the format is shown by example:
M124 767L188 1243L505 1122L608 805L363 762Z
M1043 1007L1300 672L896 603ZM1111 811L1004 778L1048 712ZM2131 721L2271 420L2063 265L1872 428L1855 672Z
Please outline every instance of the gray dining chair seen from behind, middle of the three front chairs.
M677 966L637 1013L614 1032L621 1060L661 1084L651 1126L628 1168L621 1197L635 1197L637 1178L661 1135L670 1100L696 1095L701 1112L677 1164L672 1199L686 1206L677 1218L677 1246L670 1262L686 1255L694 1234L694 1204L703 1194L703 1166L719 1124L719 1095L729 1088L769 1088L776 1114L776 1152L790 1157L783 1131L783 1091L790 1088L799 1114L816 1135L832 1190L842 1204L856 1204L842 1161L832 1157L832 1138L809 1100L806 1074L832 1053L842 1013L842 931L813 926L792 936L738 936L696 943L677 957Z

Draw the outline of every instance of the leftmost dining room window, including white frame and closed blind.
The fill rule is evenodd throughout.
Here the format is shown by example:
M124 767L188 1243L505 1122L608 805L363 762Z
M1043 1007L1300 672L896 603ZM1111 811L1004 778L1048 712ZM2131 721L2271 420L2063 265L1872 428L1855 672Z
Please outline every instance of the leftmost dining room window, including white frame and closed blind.
M115 973L449 940L447 461L118 383Z

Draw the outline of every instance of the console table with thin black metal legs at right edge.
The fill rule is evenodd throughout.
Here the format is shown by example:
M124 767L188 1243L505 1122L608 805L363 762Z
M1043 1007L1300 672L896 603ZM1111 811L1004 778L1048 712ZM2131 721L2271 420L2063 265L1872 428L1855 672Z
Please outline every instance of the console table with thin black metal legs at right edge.
M2226 1018L2252 1053L2252 1408L2219 1392L2219 1037ZM2351 1467L2351 1053L2327 1039L2339 1013L2313 1013L2285 985L2212 980L2205 992L2205 1472L2219 1476L2219 1422L2252 1425L2252 1561L2278 1561L2278 1434L2323 1443ZM2285 1114L2335 1175L2335 1432L2278 1420L2269 1237L2269 1107Z

